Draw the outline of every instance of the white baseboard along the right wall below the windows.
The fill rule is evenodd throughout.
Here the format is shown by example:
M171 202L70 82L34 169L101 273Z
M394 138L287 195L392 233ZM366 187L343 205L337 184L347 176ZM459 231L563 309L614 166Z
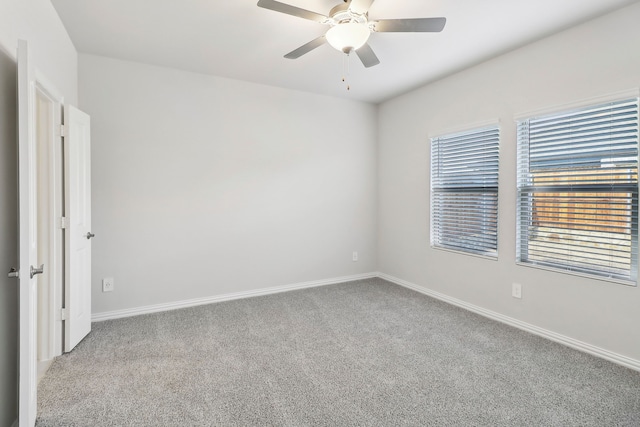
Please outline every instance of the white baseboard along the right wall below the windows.
M632 359L630 357L623 356L621 354L614 353L612 351L605 350L603 348L596 347L594 345L591 345L582 341L578 341L566 335L558 334L556 332L540 328L530 323L522 322L518 319L514 319L513 317L505 316L495 311L487 310L477 305L469 304L468 302L450 297L445 294L441 294L440 292L432 291L431 289L418 286L414 283L410 283L410 282L407 282L406 280L398 279L397 277L393 277L388 274L378 273L378 277L380 277L381 279L387 280L389 282L395 283L396 285L400 285L405 288L412 289L416 292L420 292L421 294L439 299L446 303L464 308L465 310L469 310L474 313L480 314L481 316L488 317L489 319L497 320L498 322L505 323L509 326L513 326L515 328L522 329L523 331L541 336L543 338L547 338L551 341L564 344L567 347L571 347L576 350L589 353L593 356L606 359L610 362L617 363L618 365L625 366L635 371L640 371L640 360Z

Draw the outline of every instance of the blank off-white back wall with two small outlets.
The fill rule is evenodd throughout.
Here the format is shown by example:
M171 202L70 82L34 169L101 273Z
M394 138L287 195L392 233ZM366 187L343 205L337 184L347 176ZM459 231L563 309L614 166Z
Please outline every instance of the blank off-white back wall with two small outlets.
M375 271L374 106L91 55L79 64L94 314Z

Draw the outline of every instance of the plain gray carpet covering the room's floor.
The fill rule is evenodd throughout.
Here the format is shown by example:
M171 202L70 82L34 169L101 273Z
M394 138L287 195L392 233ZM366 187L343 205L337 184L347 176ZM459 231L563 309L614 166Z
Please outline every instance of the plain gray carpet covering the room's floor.
M640 426L640 373L380 279L94 323L38 426Z

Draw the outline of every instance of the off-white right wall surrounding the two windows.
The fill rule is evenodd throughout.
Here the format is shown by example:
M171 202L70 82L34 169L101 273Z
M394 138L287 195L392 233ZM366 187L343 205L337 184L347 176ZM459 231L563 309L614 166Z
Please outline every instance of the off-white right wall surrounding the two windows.
M380 106L379 270L640 360L640 289L515 265L514 114L640 85L640 4ZM429 246L429 136L501 121L499 259ZM511 297L511 284L523 298Z

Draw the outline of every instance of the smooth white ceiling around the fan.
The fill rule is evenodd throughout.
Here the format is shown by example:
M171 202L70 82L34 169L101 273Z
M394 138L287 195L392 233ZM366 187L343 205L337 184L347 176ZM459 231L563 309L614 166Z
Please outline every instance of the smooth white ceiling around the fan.
M281 0L328 14L341 0ZM373 33L381 63L328 44L283 55L328 27L257 0L52 0L76 49L204 74L378 103L638 0L376 0L369 19L444 16L441 33Z

